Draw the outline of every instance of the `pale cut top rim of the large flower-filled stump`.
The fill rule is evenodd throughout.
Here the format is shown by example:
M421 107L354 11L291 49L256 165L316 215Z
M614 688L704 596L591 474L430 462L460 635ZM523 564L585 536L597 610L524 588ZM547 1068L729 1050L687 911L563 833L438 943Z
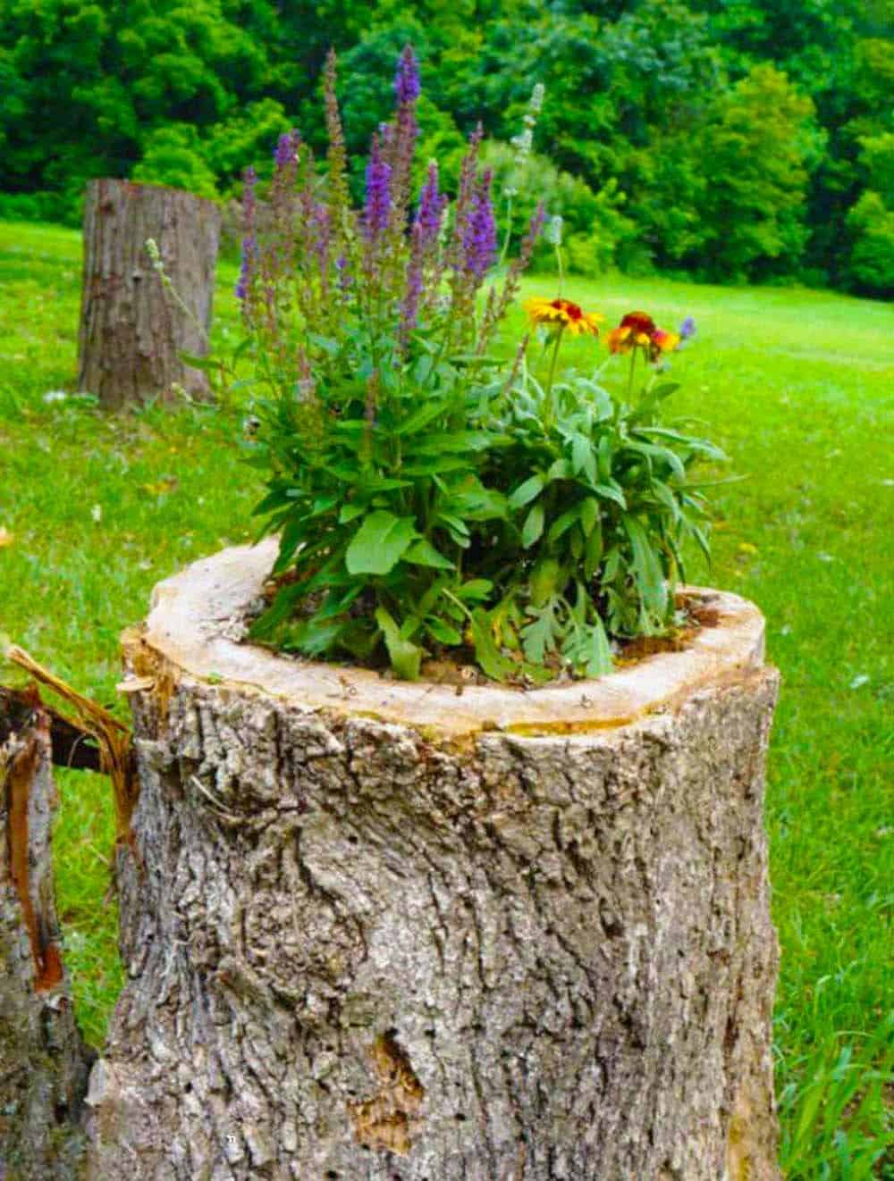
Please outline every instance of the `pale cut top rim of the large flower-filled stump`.
M519 735L587 733L636 722L692 690L739 679L764 665L764 618L726 590L684 587L717 612L686 648L643 657L597 680L522 691L500 685L399 681L374 670L278 655L235 642L228 625L261 594L278 552L276 537L201 559L160 582L138 642L179 670L213 684L252 687L306 711L375 717L454 738L482 730ZM136 642L124 634L125 650Z

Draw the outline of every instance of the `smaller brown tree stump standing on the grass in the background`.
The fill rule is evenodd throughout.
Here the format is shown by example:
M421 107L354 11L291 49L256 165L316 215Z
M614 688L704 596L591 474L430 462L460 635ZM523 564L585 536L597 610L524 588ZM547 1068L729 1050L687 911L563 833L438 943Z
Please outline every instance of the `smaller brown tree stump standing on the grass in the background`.
M129 181L90 181L84 209L84 283L78 338L78 389L116 409L161 396L179 384L207 397L208 380L179 360L203 357L197 325L210 327L221 211L176 189ZM155 239L177 306L145 250Z

